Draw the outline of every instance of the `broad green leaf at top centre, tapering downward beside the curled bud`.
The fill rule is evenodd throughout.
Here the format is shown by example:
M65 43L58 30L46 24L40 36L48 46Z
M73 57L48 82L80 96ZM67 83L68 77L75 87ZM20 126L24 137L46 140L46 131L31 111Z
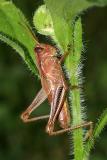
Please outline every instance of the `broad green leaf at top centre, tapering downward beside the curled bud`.
M44 0L51 14L55 35L63 50L73 43L75 17L93 6L104 6L107 0Z

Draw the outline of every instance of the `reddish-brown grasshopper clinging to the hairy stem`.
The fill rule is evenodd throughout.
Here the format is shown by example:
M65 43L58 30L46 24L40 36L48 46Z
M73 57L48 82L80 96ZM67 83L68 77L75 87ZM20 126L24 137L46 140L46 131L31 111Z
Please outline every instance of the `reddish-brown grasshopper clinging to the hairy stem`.
M35 38L34 35L33 37ZM49 120L46 126L46 132L49 135L57 135L85 126L90 126L90 128L92 128L92 122L85 122L83 124L70 127L70 111L66 97L68 85L61 67L61 63L67 53L59 59L57 57L57 50L55 47L41 43L37 43L34 48L34 53L41 78L42 89L36 95L27 110L22 113L21 119L26 123L48 118ZM74 89L79 89L79 87L76 86ZM47 98L51 106L50 114L30 118L30 114ZM61 130L54 131L56 120L58 120L60 127L62 128Z

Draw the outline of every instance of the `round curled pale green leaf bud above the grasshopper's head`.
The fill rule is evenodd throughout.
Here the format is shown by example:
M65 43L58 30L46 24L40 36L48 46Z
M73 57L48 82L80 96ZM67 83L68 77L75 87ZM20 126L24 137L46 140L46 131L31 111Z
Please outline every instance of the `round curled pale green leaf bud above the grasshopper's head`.
M49 10L46 8L46 5L41 5L34 13L33 23L38 33L50 36L52 40L57 44L57 47L62 50L62 47L58 43L58 40L55 36L53 21L50 15Z

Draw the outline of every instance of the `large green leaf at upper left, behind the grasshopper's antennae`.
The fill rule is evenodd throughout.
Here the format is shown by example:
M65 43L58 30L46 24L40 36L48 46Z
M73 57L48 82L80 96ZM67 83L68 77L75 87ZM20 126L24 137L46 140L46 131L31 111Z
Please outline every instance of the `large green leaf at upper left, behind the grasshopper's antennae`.
M37 74L34 55L36 41L27 25L24 15L11 1L0 1L0 39L14 48Z

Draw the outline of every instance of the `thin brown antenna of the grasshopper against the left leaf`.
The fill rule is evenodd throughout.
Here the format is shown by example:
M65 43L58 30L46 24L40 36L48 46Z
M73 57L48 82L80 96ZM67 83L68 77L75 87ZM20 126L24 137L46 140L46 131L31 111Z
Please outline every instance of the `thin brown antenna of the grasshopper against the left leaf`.
M18 24L26 29L26 31L32 36L32 38L34 39L34 41L36 42L36 44L39 44L36 35L34 34L34 32L32 31L32 29L30 28L30 26L27 23L23 24L21 22L18 22Z

